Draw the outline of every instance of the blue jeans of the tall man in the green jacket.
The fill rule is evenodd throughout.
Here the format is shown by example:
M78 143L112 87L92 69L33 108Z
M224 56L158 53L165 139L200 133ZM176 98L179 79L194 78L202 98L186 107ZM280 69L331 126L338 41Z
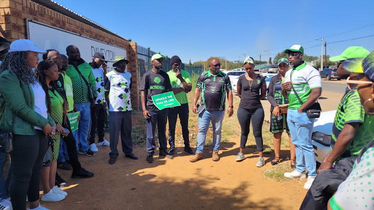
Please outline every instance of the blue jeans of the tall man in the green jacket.
M87 136L88 132L90 131L91 127L91 110L90 110L91 102L75 104L77 110L80 111L80 119L78 122L78 131L73 132L73 136L76 142L79 141L78 148L82 151L87 151L88 141Z

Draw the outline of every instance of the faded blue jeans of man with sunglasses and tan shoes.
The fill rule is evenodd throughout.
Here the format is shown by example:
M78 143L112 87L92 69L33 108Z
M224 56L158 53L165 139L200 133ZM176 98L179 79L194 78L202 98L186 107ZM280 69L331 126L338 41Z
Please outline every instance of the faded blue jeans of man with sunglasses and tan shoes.
M213 126L213 143L211 148L213 150L219 150L219 145L221 143L221 130L222 121L225 115L225 111L210 111L203 110L198 115L198 132L197 132L197 145L196 153L202 153L205 145L206 132L209 129L209 124Z

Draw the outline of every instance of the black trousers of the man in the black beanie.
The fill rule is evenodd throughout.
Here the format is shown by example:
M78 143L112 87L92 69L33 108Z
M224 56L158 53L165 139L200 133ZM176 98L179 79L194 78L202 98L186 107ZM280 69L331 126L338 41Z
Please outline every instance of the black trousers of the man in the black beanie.
M169 145L175 147L176 138L176 125L177 118L181 121L183 140L185 141L185 147L189 147L189 131L188 131L188 104L182 104L174 108L169 108L168 119L169 119Z

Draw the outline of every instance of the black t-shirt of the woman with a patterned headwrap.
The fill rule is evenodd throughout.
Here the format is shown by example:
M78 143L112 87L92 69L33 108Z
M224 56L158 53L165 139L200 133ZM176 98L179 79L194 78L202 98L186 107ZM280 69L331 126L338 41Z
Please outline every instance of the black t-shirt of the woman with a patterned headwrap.
M237 86L241 87L241 99L239 107L241 108L258 108L261 105L260 102L260 90L261 87L266 85L265 79L256 74L250 86L249 81L245 78L245 74L239 77Z

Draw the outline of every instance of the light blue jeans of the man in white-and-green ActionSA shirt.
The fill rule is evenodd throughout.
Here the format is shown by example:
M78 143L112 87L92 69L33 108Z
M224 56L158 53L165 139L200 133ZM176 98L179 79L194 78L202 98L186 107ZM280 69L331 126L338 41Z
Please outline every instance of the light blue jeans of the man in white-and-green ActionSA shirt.
M287 123L290 128L291 140L295 144L296 170L308 176L316 177L316 157L312 145L314 118L309 118L306 112L298 113L298 109L288 109Z

